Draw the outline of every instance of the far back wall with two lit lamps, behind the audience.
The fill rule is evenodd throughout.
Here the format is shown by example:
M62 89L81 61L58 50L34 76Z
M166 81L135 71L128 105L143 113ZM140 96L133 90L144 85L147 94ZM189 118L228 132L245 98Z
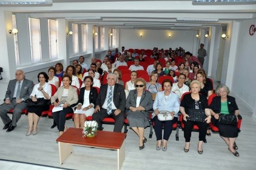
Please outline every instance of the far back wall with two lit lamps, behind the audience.
M140 34L143 34L140 37ZM170 38L169 38L170 34ZM186 51L190 51L197 55L197 49L193 49L195 39L195 31L193 30L133 30L120 29L120 47L158 49L164 48L168 50L172 47L183 47Z

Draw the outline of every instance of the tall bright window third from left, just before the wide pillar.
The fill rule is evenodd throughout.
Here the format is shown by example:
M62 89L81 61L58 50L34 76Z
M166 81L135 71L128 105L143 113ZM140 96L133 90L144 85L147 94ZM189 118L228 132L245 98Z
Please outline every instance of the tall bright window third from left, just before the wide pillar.
M57 54L57 24L55 20L48 19L48 31L49 31L49 53L50 59L56 59Z

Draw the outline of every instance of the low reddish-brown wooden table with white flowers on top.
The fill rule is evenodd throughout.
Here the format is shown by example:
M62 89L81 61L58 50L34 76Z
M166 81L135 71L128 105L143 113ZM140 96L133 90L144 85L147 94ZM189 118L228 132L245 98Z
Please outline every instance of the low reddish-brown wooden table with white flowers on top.
M117 151L117 169L121 169L125 156L125 133L97 131L95 137L83 137L83 129L69 128L56 141L59 145L59 163L72 153L73 145Z

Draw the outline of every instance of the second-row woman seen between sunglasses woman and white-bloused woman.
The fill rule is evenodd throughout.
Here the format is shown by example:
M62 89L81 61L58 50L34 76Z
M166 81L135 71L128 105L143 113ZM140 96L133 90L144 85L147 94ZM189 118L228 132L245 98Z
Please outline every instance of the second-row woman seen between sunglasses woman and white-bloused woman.
M158 93L158 91L162 91L162 86L160 83L158 83L157 72L153 71L150 74L150 82L146 83L146 90L150 91L151 93Z

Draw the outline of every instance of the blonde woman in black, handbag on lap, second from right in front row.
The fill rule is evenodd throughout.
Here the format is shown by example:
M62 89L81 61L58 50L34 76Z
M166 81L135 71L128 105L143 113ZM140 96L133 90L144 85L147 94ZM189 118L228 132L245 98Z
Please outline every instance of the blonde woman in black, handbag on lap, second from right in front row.
M211 122L211 112L206 96L199 94L201 83L198 82L198 80L193 80L190 83L190 88L191 93L185 94L180 103L180 112L183 114L184 137L186 140L184 152L189 152L191 132L194 125L197 125L199 128L197 151L198 154L203 154L203 140L206 137L207 123ZM206 118L204 114L206 115ZM192 117L194 117L194 119L192 119Z

